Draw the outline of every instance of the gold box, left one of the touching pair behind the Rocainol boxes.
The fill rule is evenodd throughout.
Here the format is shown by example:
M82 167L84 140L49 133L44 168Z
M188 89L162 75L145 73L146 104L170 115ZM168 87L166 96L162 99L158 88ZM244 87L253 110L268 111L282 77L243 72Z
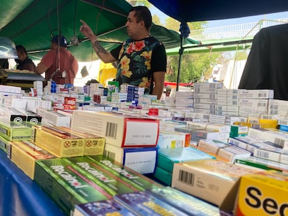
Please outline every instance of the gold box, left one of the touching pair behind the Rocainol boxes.
M83 156L85 139L51 126L33 126L33 142L59 158Z

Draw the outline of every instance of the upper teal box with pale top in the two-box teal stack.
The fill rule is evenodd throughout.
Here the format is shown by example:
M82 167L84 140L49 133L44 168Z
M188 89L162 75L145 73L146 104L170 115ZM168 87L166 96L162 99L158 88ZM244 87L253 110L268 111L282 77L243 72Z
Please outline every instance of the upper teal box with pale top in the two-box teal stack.
M193 147L158 149L157 167L172 174L174 163L204 159L215 159L215 157Z

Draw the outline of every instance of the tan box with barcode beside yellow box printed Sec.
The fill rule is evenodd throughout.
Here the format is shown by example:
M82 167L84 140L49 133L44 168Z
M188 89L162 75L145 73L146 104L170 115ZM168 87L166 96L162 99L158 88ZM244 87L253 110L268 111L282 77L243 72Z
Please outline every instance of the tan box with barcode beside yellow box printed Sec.
M175 163L172 188L220 206L240 176L252 169L217 160Z

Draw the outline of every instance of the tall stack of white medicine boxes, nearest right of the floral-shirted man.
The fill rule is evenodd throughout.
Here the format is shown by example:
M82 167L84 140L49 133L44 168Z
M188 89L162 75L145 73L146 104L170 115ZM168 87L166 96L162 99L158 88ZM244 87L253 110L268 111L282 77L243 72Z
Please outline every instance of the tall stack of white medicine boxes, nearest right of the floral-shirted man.
M195 113L216 114L218 88L223 83L194 83Z

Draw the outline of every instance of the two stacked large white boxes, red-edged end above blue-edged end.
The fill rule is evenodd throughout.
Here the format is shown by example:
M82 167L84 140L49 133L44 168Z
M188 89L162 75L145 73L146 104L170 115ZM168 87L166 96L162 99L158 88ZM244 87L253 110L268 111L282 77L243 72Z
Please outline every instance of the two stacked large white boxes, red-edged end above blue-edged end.
M154 172L159 135L158 119L75 110L71 128L104 137L104 155L118 163L141 174Z

